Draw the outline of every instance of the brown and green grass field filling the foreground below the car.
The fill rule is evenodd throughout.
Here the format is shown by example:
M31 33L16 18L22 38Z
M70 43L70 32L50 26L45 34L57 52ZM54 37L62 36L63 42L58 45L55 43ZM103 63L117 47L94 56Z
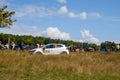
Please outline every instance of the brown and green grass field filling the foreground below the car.
M44 56L2 50L0 80L120 80L120 52Z

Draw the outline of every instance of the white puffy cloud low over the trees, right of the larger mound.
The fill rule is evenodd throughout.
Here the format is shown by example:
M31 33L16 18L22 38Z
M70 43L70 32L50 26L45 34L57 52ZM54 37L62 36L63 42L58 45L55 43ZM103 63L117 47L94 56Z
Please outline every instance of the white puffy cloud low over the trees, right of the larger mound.
M96 44L100 43L100 40L94 37L89 30L81 31L81 36L84 42L96 43Z

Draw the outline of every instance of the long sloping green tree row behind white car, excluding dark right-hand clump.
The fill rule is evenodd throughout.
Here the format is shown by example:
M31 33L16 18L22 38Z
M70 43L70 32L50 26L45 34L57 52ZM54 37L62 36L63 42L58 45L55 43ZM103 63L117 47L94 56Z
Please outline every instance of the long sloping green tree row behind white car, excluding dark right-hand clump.
M92 47L95 50L99 49L99 46L92 43L81 43L76 42L73 40L61 40L61 39L52 39L52 38L46 38L46 37L40 37L40 36L32 36L32 35L13 35L13 34L4 34L0 33L0 41L2 41L3 44L10 44L11 42L15 42L16 45L20 44L21 42L24 42L26 45L36 45L39 44L49 44L49 43L59 43L59 44L65 44L66 46L76 46L80 48L87 48Z

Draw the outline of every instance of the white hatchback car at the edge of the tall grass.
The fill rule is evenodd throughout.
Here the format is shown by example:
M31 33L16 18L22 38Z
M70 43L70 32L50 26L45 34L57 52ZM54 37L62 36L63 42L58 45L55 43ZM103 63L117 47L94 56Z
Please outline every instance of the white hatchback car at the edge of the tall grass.
M40 48L35 48L30 50L30 54L40 53L43 55L49 54L69 54L69 50L64 44L47 44L41 46Z

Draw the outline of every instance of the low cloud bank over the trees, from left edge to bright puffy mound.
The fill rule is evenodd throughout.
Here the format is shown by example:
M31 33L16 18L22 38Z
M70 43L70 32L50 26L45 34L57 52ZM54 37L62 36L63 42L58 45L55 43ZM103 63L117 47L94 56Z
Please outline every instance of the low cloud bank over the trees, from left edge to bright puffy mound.
M48 27L46 30L41 30L38 26L14 25L11 28L0 28L0 32L14 35L44 36L62 40L70 39L68 33L60 31L57 27Z

